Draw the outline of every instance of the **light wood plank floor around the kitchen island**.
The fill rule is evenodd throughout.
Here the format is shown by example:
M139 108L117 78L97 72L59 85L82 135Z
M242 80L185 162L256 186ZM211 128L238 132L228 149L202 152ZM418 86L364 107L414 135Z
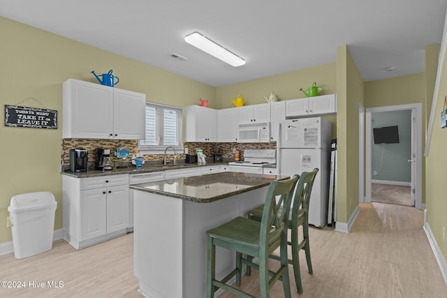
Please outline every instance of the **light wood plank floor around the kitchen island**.
M295 291L290 266L292 297L447 297L422 226L423 211L372 203L360 204L360 215L349 234L330 227L312 228L314 274L307 273L302 252L304 293ZM272 260L271 265L277 263ZM242 287L258 296L256 278L254 270L242 278ZM133 276L133 234L80 251L60 240L51 251L31 258L0 256L0 281L27 283L24 289L0 288L0 297L141 297ZM29 281L63 281L64 288L29 288ZM284 297L281 283L270 293ZM221 297L233 296L224 293Z

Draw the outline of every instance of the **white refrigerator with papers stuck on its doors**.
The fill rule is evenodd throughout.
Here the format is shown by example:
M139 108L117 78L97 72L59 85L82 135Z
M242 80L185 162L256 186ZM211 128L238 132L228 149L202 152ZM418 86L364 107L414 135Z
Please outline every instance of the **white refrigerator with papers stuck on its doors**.
M290 119L279 124L279 174L292 176L318 167L309 202L309 224L328 223L332 123L321 117Z

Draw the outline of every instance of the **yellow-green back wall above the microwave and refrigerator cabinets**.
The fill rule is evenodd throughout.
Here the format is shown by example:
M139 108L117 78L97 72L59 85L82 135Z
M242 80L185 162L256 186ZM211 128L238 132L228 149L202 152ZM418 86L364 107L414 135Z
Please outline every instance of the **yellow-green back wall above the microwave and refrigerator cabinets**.
M274 94L277 94L279 100L304 98L306 96L300 91L300 88L307 89L314 82L318 86L323 87L321 95L337 93L335 63L218 87L216 89L216 105L218 109L234 107L230 98L234 100L237 94L242 94L246 98L245 105L266 103L264 96L268 98L272 91L274 91ZM332 136L335 137L337 135L337 117L332 115L324 118L332 122Z

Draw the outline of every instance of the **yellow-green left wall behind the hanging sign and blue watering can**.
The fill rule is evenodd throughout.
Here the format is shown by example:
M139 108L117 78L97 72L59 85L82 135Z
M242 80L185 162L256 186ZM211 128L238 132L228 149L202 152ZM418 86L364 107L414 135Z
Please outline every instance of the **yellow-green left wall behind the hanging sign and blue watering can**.
M0 121L0 243L11 241L6 228L10 198L51 191L58 202L54 228L62 228L61 137L62 82L69 78L97 82L91 70L113 69L118 88L146 94L147 101L184 107L207 98L215 107L214 87L159 68L98 50L0 17L0 105L23 105L58 111L57 130L10 128ZM26 100L27 98L36 100ZM100 114L98 114L100 117Z

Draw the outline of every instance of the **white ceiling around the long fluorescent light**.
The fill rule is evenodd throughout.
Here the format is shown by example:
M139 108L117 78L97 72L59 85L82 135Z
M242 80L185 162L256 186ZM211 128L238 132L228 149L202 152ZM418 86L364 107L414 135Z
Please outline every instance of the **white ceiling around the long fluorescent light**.
M365 81L423 72L446 9L447 0L0 0L3 17L214 87L335 62L339 45ZM247 64L189 45L193 31Z

